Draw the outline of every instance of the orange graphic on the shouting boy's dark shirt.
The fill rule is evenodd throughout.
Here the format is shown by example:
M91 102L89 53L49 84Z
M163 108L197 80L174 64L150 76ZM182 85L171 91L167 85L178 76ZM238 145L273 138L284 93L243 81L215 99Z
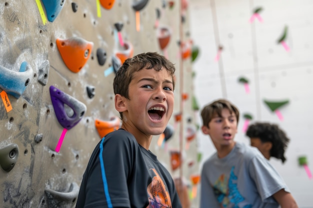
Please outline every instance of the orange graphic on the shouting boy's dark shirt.
M149 206L147 208L171 208L169 194L165 188L164 182L159 177L155 169L150 169L156 176L147 187L149 195Z

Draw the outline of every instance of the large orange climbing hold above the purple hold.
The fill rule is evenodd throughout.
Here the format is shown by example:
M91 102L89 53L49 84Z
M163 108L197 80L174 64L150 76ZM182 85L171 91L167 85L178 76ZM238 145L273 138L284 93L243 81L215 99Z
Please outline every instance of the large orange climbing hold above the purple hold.
M67 68L77 73L87 62L93 42L86 41L80 37L57 38L56 45Z

